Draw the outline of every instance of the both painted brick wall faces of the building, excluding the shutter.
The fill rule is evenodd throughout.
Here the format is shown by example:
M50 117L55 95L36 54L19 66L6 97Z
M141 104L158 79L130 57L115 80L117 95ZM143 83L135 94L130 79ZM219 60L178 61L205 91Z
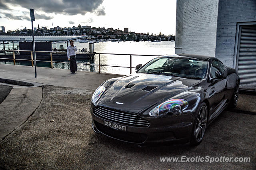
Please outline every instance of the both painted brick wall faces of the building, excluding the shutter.
M240 22L256 22L256 0L177 0L175 53L215 56L233 67Z

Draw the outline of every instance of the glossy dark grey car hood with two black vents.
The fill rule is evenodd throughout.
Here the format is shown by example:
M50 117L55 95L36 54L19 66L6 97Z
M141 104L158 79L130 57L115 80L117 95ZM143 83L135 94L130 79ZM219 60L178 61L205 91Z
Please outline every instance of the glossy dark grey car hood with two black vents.
M198 79L134 73L113 83L103 93L98 105L139 113L199 82Z

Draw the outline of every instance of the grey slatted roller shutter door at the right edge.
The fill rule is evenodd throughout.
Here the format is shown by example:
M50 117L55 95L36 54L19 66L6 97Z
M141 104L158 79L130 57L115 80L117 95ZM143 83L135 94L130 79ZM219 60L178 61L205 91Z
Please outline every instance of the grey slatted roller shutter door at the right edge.
M238 39L240 88L256 89L256 25L240 26Z

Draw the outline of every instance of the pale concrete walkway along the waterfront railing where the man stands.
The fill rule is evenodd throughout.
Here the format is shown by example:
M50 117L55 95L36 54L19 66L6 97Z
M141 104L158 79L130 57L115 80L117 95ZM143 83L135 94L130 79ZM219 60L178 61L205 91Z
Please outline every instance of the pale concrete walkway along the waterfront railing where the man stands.
M0 78L95 90L103 81L123 76L88 71L77 71L76 74L71 74L69 69L51 69L46 67L36 67L36 70L37 77L35 78L34 67L0 64Z

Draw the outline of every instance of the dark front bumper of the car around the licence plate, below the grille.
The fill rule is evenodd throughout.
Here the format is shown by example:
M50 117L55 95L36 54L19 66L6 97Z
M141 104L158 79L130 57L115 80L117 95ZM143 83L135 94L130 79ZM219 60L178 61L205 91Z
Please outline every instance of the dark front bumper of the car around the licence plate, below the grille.
M150 122L148 127L134 127L126 125L126 131L116 130L104 126L104 120L94 115L91 105L92 128L94 132L111 138L141 146L185 144L190 141L193 126L192 114L159 117L142 117ZM119 123L120 124L120 123Z

